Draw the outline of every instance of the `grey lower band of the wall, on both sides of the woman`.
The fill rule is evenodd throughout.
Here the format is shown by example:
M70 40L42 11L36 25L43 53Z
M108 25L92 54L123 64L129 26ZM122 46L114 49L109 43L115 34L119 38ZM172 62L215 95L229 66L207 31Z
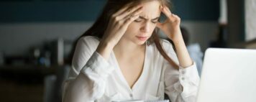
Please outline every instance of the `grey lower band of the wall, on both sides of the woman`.
M0 24L0 50L6 55L22 55L31 46L42 45L42 42L58 38L76 40L91 24L92 22ZM209 41L216 39L216 22L183 21L181 25L191 34L190 42L198 42L202 50L208 47Z

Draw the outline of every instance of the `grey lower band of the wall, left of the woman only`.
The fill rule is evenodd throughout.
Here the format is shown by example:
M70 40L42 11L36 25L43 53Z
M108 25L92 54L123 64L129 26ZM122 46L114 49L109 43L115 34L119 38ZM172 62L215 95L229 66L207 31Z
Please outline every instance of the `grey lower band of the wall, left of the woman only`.
M75 40L88 27L91 22L0 24L0 50L5 55L22 55L43 42Z

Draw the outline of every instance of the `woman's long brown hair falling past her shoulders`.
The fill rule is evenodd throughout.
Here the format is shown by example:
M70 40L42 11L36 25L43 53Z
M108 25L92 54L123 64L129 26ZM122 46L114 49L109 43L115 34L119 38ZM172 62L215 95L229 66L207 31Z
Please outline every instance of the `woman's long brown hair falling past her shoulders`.
M133 5L136 5L142 1L153 1L153 0L108 0L99 18L96 19L96 22L86 32L84 32L81 35L81 37L94 36L101 39L104 35L104 32L106 31L106 28L109 24L109 19L111 18L112 14L114 14L116 11L121 9L126 4L132 3ZM170 7L169 0L157 0L157 1L160 1L160 3L162 3L163 5ZM148 40L149 44L155 43L157 50L159 50L160 54L163 55L165 60L168 60L168 62L170 62L170 65L173 65L174 68L178 69L178 65L175 64L175 62L173 62L173 60L170 59L170 57L168 57L165 50L163 50L163 47L160 42L160 38L158 37L157 33L158 33L158 28L156 27L154 29L154 32L152 32L152 36ZM78 40L81 37L78 37ZM70 60L73 57L73 53L75 51L76 43L78 42L78 40L76 40L76 42L73 45L73 50L71 51Z

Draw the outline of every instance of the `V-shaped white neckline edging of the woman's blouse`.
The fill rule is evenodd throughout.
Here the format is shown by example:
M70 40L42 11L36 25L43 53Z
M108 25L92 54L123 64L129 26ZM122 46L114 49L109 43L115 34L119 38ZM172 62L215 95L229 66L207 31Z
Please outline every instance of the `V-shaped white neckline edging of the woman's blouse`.
M142 77L143 75L145 75L145 70L146 70L146 65L147 65L147 45L145 45L145 58L144 58L144 62L143 62L143 68L142 68L142 73L140 74L139 78L135 81L134 85L132 85L132 88L129 87L129 84L127 82L127 80L124 78L124 75L122 73L122 70L120 69L119 67L119 63L118 61L116 60L116 55L114 55L114 50L112 50L112 55L114 57L114 62L115 62L115 65L116 65L116 68L118 70L118 74L119 76L121 77L121 80L124 82L124 84L126 85L126 87L129 89L129 91L133 91L134 88L137 87L137 84L140 83L140 80L142 80Z

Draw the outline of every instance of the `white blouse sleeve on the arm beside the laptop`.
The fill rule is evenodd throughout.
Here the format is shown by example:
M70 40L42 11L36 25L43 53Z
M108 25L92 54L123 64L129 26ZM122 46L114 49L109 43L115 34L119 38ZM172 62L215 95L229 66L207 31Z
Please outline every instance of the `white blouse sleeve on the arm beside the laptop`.
M168 55L174 62L178 63L178 57L172 45L168 43L163 46L168 47ZM169 96L170 101L195 102L200 80L196 63L193 62L193 65L188 68L179 67L179 70L176 70L168 62L165 62L164 69L165 93Z

